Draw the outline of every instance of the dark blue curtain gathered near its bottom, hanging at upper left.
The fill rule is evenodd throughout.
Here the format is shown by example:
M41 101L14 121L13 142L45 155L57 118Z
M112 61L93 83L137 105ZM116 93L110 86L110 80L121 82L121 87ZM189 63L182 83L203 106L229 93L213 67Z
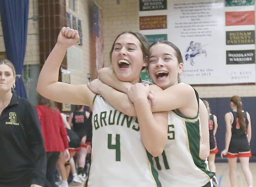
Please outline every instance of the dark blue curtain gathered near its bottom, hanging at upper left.
M7 59L16 70L16 92L27 98L21 78L26 52L29 0L0 0L0 12Z

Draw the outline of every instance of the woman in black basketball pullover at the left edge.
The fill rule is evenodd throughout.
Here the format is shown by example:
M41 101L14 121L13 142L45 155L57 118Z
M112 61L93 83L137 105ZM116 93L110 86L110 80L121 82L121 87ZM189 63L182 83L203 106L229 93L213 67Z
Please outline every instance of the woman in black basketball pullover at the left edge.
M0 61L0 187L44 186L46 155L36 109L14 91L15 68Z

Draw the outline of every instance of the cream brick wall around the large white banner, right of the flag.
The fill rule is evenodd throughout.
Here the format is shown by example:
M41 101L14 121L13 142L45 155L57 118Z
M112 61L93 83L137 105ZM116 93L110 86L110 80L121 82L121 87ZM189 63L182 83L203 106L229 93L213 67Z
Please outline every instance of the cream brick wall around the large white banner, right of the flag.
M103 8L103 34L104 34L104 61L109 66L109 51L112 43L120 32L126 30L139 31L139 0L102 1ZM113 29L115 28L115 29ZM195 87L200 97L255 97L255 85L242 86L203 86Z

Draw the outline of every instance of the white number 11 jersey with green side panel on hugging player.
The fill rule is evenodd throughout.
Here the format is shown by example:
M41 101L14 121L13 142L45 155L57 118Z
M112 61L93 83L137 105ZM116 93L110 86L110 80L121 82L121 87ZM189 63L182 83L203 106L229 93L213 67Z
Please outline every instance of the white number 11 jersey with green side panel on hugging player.
M196 97L199 103L197 92ZM169 111L168 140L163 154L154 161L163 187L201 187L209 183L213 174L207 161L199 157L201 141L199 111L195 118Z

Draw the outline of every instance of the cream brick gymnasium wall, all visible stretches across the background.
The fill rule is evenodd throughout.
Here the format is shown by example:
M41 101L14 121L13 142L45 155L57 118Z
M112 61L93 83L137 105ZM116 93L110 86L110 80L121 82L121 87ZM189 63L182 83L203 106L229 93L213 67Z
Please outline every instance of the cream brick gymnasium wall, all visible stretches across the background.
M67 0L68 2L68 0ZM71 82L86 83L87 73L90 71L90 33L89 33L89 18L88 5L90 1L78 0L79 12L75 13L78 18L83 21L83 69L79 71L71 70ZM126 30L139 31L139 0L98 0L97 4L103 11L103 37L104 37L104 62L105 66L110 65L109 51L115 37L120 32ZM117 3L119 2L119 4ZM67 3L66 3L67 4ZM67 7L68 11L68 7ZM24 64L39 65L39 46L38 46L38 0L29 1L29 19L28 19L28 41ZM89 42L88 42L89 41ZM2 26L0 25L0 52L5 51ZM255 85L242 86L204 86L195 87L198 90L200 97L232 97L239 95L241 97L255 97Z

